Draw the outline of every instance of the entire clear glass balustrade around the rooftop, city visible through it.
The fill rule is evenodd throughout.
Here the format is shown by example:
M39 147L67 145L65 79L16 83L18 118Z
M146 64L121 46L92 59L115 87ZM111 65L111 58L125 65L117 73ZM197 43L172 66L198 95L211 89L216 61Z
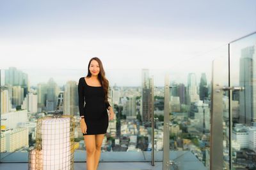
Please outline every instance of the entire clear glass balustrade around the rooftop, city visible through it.
M256 34L203 51L182 62L168 60L169 69L106 69L115 118L109 120L100 161L166 164L167 152L170 169L256 167ZM78 80L86 74L1 69L1 162L28 162L38 118L57 108L75 118L75 162L86 160L77 96ZM164 124L166 106L170 119ZM170 142L163 150L166 135Z

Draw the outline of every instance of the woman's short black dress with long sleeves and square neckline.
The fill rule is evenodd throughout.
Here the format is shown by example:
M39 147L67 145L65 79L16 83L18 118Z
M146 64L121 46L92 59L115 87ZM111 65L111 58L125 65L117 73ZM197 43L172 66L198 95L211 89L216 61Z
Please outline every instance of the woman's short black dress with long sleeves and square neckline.
M84 77L78 83L79 113L84 115L86 134L105 134L108 129L108 102L105 102L103 87L86 84ZM85 104L84 104L85 103Z

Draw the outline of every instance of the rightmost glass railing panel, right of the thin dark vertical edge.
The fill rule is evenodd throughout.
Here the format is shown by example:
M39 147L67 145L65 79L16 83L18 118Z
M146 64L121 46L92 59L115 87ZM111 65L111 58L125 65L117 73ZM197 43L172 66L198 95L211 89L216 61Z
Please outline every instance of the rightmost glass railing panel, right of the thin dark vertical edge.
M232 167L255 169L256 34L230 43L232 92Z

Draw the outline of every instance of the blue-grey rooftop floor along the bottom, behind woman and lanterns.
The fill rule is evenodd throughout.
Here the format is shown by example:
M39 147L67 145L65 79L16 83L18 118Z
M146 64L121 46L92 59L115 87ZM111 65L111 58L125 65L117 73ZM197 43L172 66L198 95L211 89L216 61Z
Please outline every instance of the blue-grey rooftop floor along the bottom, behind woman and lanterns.
M103 152L97 170L162 170L163 152L156 152L155 166L151 166L151 152ZM86 169L85 152L75 152L74 169ZM172 151L170 159L174 160L179 170L206 170L207 168L189 151ZM10 162L10 160L13 160ZM17 162L20 160L20 162ZM16 163L17 162L17 163ZM2 159L0 170L27 170L28 153L13 153ZM170 166L170 169L174 169Z

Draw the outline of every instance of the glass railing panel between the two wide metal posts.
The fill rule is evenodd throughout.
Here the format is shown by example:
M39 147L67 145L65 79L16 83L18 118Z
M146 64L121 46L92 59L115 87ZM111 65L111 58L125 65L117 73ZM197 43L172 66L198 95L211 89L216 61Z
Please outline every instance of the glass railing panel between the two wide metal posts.
M183 62L171 63L170 156L173 168L184 169L189 162L186 157L199 169L210 168L212 60L228 57L227 50L224 45Z

